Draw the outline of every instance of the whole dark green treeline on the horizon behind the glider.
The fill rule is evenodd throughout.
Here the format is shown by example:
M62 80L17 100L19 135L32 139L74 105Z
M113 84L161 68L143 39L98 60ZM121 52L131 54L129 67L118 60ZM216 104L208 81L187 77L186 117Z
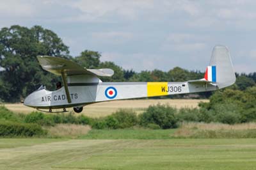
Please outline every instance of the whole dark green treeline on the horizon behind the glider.
M133 70L124 70L113 62L101 62L100 53L92 50L84 50L73 58L69 54L68 46L53 31L41 26L31 28L11 26L3 27L0 31L0 66L5 68L4 72L0 72L0 102L19 102L41 84L47 89L55 89L56 82L61 81L61 78L40 68L36 59L36 56L40 55L67 58L86 68L112 68L115 71L113 77L102 77L102 81L172 82L204 77L203 72L179 67L172 68L168 72L146 70L137 73ZM255 86L255 81L255 72L237 74L236 88L244 90ZM200 93L193 97L205 98L210 95L211 93Z

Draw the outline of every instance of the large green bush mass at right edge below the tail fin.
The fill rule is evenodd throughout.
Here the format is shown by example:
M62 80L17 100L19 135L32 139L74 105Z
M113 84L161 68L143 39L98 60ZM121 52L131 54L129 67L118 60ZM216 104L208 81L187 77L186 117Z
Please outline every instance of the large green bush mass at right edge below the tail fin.
M208 117L205 122L211 120L233 124L256 121L256 87L253 86L244 91L224 89L221 93L214 93L209 103L199 106L203 111L201 116ZM204 120L200 119L200 121Z

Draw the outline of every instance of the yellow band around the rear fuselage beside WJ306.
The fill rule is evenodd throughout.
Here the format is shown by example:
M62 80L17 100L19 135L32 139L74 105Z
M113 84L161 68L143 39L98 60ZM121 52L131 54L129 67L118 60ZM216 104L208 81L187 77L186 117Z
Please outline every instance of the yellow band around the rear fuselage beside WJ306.
M147 83L148 97L168 95L168 92L166 91L166 89L168 89L168 82L148 82Z

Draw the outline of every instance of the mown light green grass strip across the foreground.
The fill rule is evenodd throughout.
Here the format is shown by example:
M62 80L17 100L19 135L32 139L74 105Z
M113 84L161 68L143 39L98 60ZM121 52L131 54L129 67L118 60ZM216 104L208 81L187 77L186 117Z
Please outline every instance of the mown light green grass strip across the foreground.
M11 170L256 169L255 139L0 139L0 146L0 169Z

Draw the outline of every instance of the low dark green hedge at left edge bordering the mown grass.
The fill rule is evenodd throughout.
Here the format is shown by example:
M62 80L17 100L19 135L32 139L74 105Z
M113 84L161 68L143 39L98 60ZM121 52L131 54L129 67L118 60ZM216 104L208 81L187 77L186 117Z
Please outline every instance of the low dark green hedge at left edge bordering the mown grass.
M0 136L39 136L45 135L45 130L34 123L17 123L12 121L0 121Z

